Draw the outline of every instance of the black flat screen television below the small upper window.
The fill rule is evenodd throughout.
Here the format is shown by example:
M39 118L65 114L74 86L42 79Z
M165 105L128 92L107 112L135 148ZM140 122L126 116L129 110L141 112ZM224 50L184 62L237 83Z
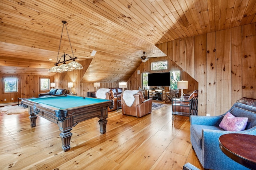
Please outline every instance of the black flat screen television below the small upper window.
M148 73L148 86L170 86L170 72Z

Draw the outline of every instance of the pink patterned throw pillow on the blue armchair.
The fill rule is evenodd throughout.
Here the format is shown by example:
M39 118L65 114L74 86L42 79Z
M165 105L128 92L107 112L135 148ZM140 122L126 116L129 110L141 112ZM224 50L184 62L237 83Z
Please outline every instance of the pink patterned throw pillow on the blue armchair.
M247 125L248 117L235 117L231 113L226 113L220 122L219 127L225 131L243 131Z

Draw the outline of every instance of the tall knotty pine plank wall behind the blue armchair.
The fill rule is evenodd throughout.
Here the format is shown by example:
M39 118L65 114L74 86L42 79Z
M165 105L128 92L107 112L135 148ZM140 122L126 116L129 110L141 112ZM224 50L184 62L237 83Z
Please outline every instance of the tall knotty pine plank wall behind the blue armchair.
M242 97L256 98L256 23L186 38L185 48L180 42L157 47L198 82L198 115L221 115Z

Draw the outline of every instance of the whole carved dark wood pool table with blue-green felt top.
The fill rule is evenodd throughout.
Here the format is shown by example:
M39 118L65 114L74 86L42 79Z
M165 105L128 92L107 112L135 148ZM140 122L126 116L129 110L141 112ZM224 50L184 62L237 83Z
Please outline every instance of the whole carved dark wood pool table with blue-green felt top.
M37 115L59 126L62 149L65 152L70 150L72 127L81 121L98 117L100 133L106 133L108 107L113 106L111 100L70 95L24 99L22 103L28 106L31 127L36 126Z

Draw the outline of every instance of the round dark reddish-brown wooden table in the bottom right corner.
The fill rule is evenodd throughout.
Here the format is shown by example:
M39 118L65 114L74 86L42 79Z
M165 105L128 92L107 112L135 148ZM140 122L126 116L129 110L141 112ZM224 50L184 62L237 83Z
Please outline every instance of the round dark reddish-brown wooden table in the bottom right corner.
M256 169L256 136L242 133L228 133L219 138L220 149L232 160Z

